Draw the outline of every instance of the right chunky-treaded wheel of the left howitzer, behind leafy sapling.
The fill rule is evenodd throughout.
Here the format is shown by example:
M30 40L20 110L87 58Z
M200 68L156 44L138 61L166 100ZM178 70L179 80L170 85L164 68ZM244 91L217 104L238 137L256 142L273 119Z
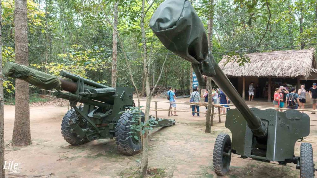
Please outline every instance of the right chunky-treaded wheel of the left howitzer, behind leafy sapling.
M142 121L144 122L144 113L142 112ZM118 150L125 154L125 155L135 155L140 152L142 148L142 144L140 141L140 134L138 134L139 140L129 137L131 134L130 132L130 122L132 120L132 114L130 112L125 112L121 115L120 119L118 120L116 126L116 144ZM126 139L129 137L128 139Z

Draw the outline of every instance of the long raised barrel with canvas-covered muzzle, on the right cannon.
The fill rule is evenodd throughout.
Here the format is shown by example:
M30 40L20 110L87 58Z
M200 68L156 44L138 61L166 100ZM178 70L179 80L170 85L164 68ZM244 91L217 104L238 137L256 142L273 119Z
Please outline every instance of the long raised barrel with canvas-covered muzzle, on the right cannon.
M191 62L200 86L202 75L212 77L226 96L236 105L257 137L267 135L267 127L240 97L209 51L205 28L188 0L166 0L154 12L150 27L163 45Z

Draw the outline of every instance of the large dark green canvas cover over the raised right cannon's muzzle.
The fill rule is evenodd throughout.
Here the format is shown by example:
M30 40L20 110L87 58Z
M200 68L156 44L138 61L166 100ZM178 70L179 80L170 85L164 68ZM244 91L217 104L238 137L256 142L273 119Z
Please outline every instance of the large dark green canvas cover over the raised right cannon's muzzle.
M191 62L200 86L206 86L202 75L216 75L204 25L188 0L161 3L150 27L167 49Z

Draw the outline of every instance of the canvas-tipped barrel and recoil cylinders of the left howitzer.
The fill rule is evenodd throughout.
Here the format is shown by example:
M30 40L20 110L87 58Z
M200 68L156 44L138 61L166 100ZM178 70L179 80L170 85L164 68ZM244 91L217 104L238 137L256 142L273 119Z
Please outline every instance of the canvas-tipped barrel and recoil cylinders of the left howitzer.
M65 71L61 71L60 75L71 80L61 79L54 75L44 73L20 64L7 62L3 67L3 74L15 79L22 79L29 84L45 90L56 89L57 91L64 90L72 93L63 94L62 92L57 92L55 93L55 96L58 98L76 100L75 98L77 97L77 99L81 99L81 102L89 102L93 105L101 107L105 106L106 104L102 104L93 100L98 100L110 105L113 105L114 103L115 88L99 84L89 79L84 79L80 76ZM77 81L79 79L83 81L83 89L82 93L80 93L81 97L76 95L78 90Z

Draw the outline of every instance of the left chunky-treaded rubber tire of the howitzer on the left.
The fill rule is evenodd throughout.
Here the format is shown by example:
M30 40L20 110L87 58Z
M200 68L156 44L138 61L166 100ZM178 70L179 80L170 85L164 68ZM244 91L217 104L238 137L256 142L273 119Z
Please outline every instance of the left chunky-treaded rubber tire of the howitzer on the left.
M77 137L77 134L71 130L72 128L69 125L69 120L76 117L78 116L74 108L66 112L63 120L61 121L61 134L66 142L72 145L82 145L89 142L89 140Z

